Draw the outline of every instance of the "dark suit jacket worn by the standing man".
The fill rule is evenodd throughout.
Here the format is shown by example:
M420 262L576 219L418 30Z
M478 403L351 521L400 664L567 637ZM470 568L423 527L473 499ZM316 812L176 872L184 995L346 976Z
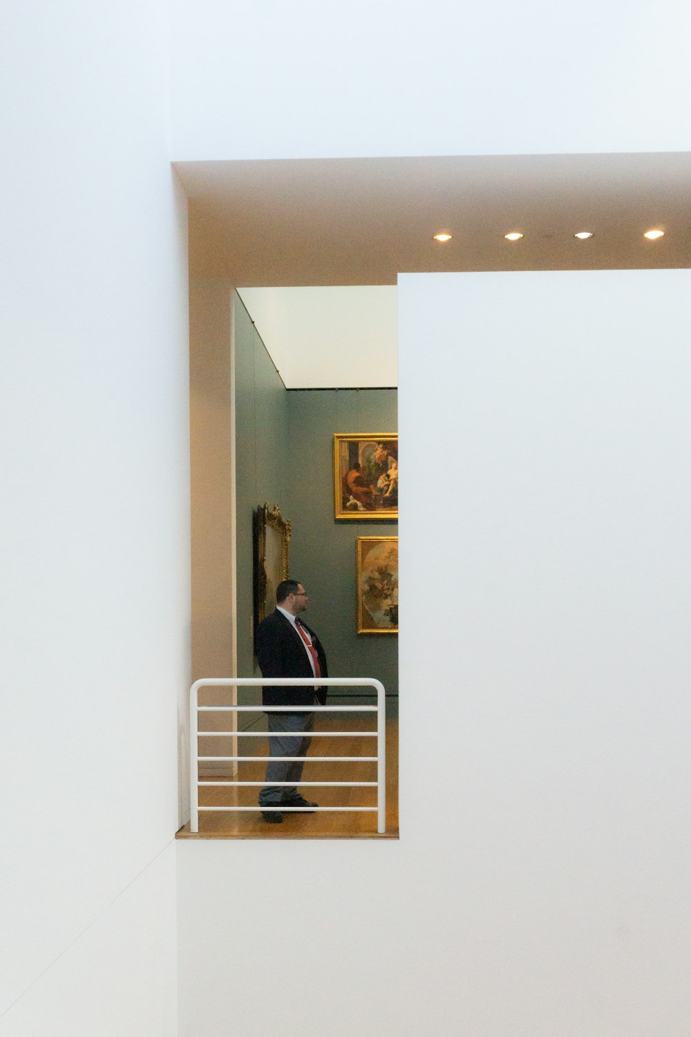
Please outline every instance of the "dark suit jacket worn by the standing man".
M303 622L303 620L300 620ZM312 643L317 651L321 676L327 677L326 655L321 641L314 630L303 623L312 635ZM310 677L312 683L303 688L277 688L270 684L262 689L262 702L265 706L311 706L315 700L314 674L305 648L305 644L289 619L275 612L262 619L257 627L257 658L262 677ZM322 705L326 701L326 689L316 692L317 702Z

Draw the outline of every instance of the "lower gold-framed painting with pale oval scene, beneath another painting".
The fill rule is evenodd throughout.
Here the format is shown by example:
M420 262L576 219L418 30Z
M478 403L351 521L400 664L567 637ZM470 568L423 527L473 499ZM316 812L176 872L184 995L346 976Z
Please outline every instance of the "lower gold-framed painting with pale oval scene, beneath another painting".
M358 536L357 633L398 634L398 537Z

